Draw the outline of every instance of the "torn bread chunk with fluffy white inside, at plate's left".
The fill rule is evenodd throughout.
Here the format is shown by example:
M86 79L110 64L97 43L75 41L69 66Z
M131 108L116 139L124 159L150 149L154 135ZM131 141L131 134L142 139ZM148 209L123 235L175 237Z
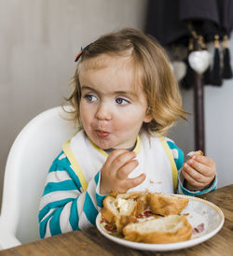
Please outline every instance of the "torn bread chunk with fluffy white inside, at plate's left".
M121 233L125 225L137 221L136 216L142 214L147 206L145 192L113 192L103 200L102 216L104 220L117 227L118 233Z

